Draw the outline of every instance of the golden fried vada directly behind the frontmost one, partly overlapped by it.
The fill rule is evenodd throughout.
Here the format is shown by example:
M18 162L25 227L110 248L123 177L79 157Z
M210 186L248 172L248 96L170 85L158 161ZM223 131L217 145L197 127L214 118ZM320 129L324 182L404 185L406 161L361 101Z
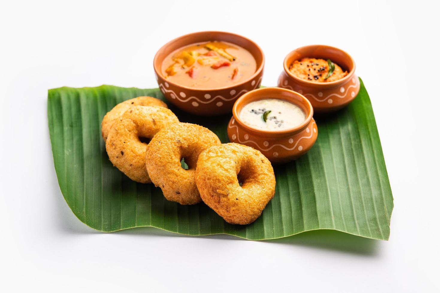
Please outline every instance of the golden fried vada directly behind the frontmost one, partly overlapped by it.
M154 185L160 187L166 199L183 205L202 201L194 182L199 154L220 140L208 128L176 123L156 134L147 146L146 165ZM185 159L188 170L180 165Z

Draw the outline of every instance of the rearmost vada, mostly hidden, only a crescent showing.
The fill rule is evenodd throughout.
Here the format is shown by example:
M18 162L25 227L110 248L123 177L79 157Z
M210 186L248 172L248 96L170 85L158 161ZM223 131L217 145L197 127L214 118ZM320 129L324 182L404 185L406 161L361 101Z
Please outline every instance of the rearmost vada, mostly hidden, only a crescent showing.
M101 134L104 141L107 140L113 123L115 123L115 121L132 106L159 106L168 108L163 101L153 97L137 97L117 104L113 109L107 112L106 116L103 118L103 122L101 123Z

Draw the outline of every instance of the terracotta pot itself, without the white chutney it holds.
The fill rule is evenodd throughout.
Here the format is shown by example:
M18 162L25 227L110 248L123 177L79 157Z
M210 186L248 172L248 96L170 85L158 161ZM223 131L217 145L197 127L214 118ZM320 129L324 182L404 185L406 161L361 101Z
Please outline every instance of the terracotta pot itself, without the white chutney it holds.
M299 106L306 119L297 127L267 131L250 127L240 119L243 106L257 100L277 98ZM318 137L318 127L313 119L312 104L301 94L279 87L264 87L242 95L234 104L232 118L227 126L227 136L231 142L256 148L271 163L286 163L304 155Z

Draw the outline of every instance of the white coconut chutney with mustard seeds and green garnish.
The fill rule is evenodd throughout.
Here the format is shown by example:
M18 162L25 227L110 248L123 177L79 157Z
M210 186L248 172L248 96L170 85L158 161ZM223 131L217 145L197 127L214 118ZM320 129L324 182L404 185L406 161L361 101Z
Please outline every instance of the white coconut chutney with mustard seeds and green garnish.
M246 125L266 131L290 129L305 120L305 113L300 107L280 99L250 102L242 108L239 116Z

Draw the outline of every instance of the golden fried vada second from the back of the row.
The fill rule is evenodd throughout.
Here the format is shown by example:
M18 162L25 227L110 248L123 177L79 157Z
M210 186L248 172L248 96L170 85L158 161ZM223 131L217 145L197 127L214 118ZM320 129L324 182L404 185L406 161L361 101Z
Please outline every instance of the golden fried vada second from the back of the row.
M131 107L117 119L108 134L106 150L110 161L130 179L150 183L145 168L147 144L139 137L151 139L165 126L178 122L176 115L164 107Z

